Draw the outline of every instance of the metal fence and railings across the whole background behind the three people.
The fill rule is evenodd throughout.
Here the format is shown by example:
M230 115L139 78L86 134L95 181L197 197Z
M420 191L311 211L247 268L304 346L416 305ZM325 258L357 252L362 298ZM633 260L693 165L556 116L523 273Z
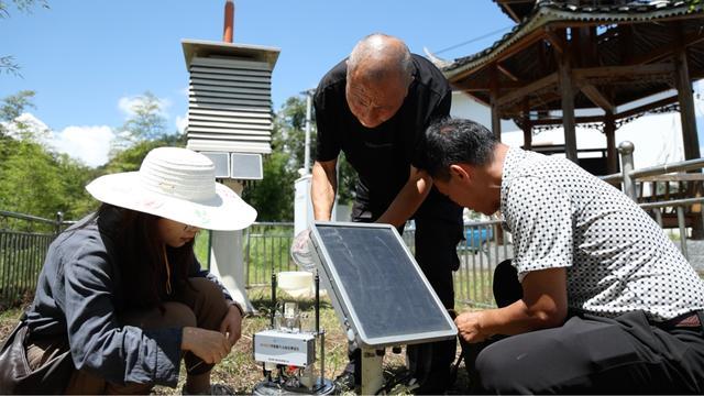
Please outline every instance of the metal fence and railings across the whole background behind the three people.
M603 179L613 184L623 183L625 193L634 199L639 177L704 167L704 160L698 158L635 170L632 156L629 157L632 145L622 143L619 151L624 172ZM680 249L691 263L696 263L695 268L701 274L704 273L704 241L695 241L703 252L697 256L701 261L697 263L697 258L693 260L690 248L690 243L694 241L688 241L683 208L702 204L704 197L641 204L661 227L661 210L676 210ZM48 244L68 223L61 218L48 220L0 211L0 308L26 300L34 293ZM702 228L704 229L704 215ZM414 235L413 227L407 227L403 234L411 252L415 251ZM491 306L494 304L493 271L498 263L513 256L512 237L503 231L498 220L469 222L464 226L464 235L465 240L458 245L460 268L454 273L455 298L471 305ZM293 222L257 222L244 230L243 237L245 285L249 288L271 285L273 273L297 270L289 256L294 238Z

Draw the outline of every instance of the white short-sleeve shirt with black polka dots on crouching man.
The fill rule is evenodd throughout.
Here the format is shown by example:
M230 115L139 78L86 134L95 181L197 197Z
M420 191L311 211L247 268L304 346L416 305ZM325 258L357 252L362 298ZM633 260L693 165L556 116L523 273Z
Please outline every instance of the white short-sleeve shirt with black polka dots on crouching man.
M570 308L653 320L704 308L704 282L658 223L571 161L510 147L501 210L519 279L566 267Z

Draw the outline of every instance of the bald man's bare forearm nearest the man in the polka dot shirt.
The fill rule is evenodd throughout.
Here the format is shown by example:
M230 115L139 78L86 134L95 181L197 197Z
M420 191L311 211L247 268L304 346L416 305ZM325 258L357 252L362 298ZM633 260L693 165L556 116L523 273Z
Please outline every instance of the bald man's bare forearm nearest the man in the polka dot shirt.
M426 170L410 167L410 176L404 188L398 191L396 198L386 211L376 220L380 223L388 223L394 227L402 227L406 223L422 204L430 193L432 178Z

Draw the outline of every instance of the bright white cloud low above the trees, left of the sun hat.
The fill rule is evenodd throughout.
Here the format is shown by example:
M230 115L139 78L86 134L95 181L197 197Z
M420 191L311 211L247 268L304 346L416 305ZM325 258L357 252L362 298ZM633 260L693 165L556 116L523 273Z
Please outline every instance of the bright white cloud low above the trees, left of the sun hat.
M57 152L95 167L108 162L110 141L113 138L112 129L107 125L68 127L54 133L53 146Z

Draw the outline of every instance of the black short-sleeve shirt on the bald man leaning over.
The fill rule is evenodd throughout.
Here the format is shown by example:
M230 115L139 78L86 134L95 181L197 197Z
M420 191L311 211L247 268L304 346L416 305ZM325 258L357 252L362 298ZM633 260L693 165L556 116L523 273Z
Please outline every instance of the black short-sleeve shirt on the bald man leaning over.
M358 201L374 217L388 208L406 184L410 165L422 167L426 128L433 119L450 114L452 90L442 73L422 56L413 54L413 63L414 81L404 103L376 128L362 125L350 111L345 99L346 59L328 72L316 90L316 158L331 161L344 152L359 175ZM424 207L438 200L455 207L435 188Z

